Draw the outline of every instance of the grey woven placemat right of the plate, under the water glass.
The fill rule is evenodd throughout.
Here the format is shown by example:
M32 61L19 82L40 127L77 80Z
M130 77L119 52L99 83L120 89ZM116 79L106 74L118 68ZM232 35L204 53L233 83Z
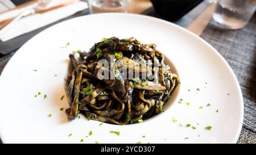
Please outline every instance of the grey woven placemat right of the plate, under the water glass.
M201 37L228 61L240 83L245 114L238 143L256 143L256 14L241 30L221 30L213 20Z

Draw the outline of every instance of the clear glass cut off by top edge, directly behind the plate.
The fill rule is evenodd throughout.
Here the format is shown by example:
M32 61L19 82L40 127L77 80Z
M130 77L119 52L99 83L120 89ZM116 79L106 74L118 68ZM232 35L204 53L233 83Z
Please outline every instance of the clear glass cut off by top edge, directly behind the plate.
M92 14L102 12L127 12L127 0L88 0Z

